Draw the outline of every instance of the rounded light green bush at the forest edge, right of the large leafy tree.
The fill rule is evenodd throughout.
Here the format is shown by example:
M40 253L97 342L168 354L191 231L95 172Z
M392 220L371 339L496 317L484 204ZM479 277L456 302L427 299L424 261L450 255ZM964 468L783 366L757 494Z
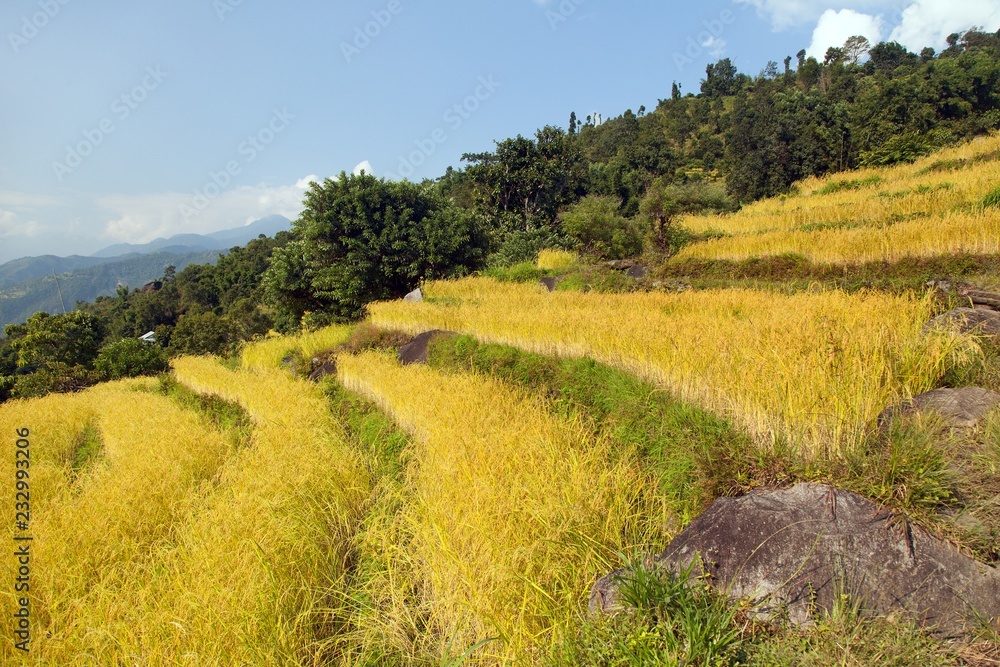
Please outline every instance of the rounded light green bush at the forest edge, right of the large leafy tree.
M561 216L563 231L586 252L606 259L623 259L642 253L642 234L636 224L619 212L613 197L591 195L569 207Z

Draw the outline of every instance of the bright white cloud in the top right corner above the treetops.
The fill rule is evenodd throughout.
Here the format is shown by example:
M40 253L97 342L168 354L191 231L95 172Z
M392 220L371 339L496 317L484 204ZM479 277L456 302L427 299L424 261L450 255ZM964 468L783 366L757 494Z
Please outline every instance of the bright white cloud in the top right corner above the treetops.
M916 0L903 10L903 20L889 39L911 51L925 46L942 49L948 35L972 26L1000 29L1000 0Z

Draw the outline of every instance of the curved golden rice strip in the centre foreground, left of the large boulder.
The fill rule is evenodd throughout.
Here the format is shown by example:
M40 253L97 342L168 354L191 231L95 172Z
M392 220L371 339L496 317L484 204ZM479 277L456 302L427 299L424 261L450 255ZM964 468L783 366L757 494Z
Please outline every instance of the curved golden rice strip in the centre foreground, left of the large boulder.
M521 664L576 617L616 552L648 543L632 506L640 476L537 399L377 353L341 357L338 373L416 436L400 541L382 545L389 563L370 591L384 637L423 615L442 664L488 638L500 641L477 661Z

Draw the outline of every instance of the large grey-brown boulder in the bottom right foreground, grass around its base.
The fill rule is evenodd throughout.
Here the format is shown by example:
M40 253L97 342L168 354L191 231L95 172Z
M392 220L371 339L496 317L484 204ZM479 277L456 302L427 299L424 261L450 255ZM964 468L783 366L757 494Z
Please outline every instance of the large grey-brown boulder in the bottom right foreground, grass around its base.
M866 613L905 612L944 636L1000 616L1000 574L861 496L822 484L721 498L656 559L705 576L757 614L808 625L842 594ZM619 570L599 580L592 612L620 608Z

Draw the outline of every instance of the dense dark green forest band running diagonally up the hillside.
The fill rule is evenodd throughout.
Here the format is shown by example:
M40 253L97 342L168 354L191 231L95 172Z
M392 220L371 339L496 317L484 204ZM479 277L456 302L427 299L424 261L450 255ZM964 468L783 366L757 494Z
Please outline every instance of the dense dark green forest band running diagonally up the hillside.
M1000 33L940 53L852 37L822 62L800 51L756 75L729 59L698 93L656 108L498 141L438 179L361 174L314 183L291 233L217 265L168 269L145 289L36 313L0 340L0 400L155 373L171 354L227 354L272 329L360 317L428 278L576 248L669 255L671 220L737 209L807 176L913 161L1000 128ZM155 344L138 340L155 332Z

